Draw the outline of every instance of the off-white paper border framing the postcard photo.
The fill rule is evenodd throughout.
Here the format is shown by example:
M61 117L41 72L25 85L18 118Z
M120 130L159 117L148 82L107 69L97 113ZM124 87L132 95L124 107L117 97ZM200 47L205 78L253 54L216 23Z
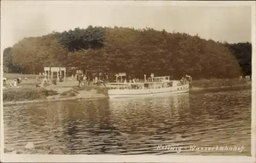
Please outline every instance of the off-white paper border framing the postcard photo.
M64 1L63 1L64 2ZM104 1L87 1L103 3ZM1 1L1 10L4 1ZM65 3L76 3L65 1ZM2 162L256 162L256 3L254 1L108 1L112 4L170 5L170 6L251 6L251 44L252 44L252 109L251 109L251 157L250 156L189 156L189 155L37 155L4 153L3 119L3 54L0 66L0 116ZM3 15L1 14L1 17ZM1 25L2 26L2 25ZM2 35L2 30L1 30ZM3 38L1 37L1 48Z

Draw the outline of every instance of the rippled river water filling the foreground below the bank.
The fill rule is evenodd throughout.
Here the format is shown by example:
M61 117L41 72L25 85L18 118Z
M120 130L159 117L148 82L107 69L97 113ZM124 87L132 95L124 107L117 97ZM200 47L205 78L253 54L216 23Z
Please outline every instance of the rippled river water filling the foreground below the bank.
M6 147L59 154L250 156L250 129L251 90L4 107Z

